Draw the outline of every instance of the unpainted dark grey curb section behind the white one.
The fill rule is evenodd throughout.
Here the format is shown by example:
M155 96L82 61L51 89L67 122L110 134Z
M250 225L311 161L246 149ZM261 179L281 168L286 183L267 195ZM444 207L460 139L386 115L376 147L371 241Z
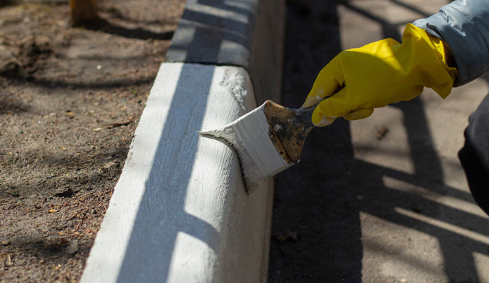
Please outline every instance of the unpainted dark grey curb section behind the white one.
M283 0L188 0L167 62L240 66L257 104L281 99Z

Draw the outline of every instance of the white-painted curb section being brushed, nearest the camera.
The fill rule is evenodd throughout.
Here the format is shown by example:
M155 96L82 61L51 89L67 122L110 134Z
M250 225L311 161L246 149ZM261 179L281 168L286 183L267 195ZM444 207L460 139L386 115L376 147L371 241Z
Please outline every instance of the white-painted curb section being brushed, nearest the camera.
M254 109L240 67L164 63L81 282L259 282L273 185L247 195L237 156L199 137Z

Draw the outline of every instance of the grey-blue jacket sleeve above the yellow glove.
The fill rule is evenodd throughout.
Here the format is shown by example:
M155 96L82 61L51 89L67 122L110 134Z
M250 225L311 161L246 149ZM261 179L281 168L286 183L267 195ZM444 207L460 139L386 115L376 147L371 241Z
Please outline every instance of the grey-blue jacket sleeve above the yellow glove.
M489 70L489 0L457 0L413 23L440 37L454 55L461 86Z

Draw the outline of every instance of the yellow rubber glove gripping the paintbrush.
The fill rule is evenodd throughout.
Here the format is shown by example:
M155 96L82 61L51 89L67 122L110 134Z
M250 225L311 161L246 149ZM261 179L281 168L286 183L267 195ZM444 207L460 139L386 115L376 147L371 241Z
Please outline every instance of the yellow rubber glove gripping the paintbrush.
M388 38L340 52L320 71L302 107L319 103L313 124L325 126L337 117L369 117L373 108L419 96L424 86L446 98L457 76L449 59L442 40L408 24L401 44Z

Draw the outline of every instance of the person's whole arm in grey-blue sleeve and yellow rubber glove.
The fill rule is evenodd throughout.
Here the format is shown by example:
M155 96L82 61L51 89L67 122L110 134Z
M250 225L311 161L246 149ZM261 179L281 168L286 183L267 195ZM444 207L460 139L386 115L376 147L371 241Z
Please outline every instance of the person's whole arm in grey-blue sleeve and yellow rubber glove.
M392 39L344 50L328 63L303 107L318 104L316 126L357 120L374 108L411 100L432 88L442 98L489 69L489 0L457 0L408 24Z

